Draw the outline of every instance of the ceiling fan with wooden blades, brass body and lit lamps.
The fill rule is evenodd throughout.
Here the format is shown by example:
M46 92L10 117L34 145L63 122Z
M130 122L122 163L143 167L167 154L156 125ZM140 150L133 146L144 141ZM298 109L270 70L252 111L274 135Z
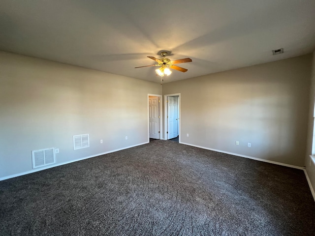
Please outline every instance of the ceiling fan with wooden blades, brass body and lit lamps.
M167 52L161 52L161 56L163 58L157 59L155 57L150 57L148 58L153 59L158 62L156 65L145 65L145 66L138 66L134 68L141 68L141 67L148 67L148 66L160 66L158 69L156 69L156 72L159 76L164 76L165 75L170 75L172 73L171 69L178 70L181 72L186 72L188 69L185 69L183 67L179 67L174 64L179 64L179 63L185 63L185 62L191 62L192 60L190 58L184 58L184 59L178 59L178 60L170 60L168 58L165 58L167 56Z

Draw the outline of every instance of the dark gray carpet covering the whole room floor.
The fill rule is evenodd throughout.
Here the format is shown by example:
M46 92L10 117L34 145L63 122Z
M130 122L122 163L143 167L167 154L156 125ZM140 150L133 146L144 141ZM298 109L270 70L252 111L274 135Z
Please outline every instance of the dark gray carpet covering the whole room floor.
M176 142L0 182L0 235L314 236L303 171Z

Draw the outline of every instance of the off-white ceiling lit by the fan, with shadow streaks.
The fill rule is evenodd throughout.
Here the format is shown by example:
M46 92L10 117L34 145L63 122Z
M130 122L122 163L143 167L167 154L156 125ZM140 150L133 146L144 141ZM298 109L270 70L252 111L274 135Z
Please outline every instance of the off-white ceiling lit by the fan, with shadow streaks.
M315 0L1 0L0 50L167 83L312 53Z

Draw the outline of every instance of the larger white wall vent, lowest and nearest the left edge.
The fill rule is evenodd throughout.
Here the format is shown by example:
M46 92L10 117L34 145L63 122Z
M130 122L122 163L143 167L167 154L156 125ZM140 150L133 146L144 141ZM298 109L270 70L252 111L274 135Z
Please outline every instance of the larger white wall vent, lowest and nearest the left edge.
M55 148L32 151L32 167L38 168L56 163Z

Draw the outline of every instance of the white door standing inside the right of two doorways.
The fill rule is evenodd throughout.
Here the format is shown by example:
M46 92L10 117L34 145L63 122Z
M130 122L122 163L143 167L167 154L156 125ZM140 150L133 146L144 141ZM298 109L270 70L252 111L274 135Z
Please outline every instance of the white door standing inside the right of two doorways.
M178 99L167 97L167 139L178 136Z

